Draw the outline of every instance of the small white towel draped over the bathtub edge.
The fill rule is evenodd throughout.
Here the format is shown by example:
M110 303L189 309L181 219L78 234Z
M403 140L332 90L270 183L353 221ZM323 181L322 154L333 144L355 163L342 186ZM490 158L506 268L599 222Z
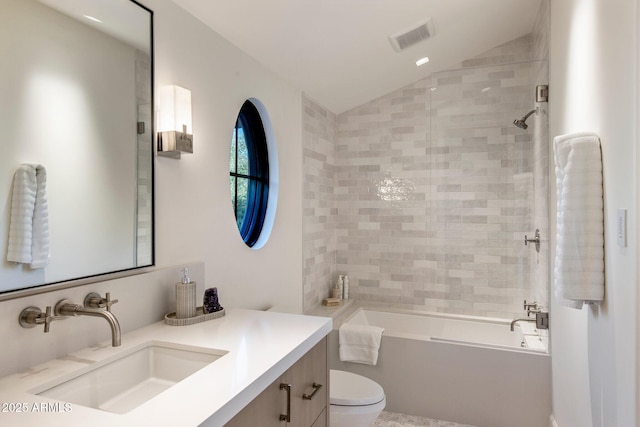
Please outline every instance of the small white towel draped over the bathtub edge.
M339 330L340 360L375 365L383 328L343 323Z

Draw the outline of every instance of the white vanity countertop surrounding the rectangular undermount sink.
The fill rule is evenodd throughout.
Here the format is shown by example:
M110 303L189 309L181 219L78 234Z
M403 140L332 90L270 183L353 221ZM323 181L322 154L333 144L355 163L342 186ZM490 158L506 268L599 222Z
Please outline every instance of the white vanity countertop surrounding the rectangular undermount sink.
M120 347L111 347L109 340L101 346L1 378L0 425L185 427L208 420L207 425L221 426L331 332L331 328L331 319L325 317L242 309L229 309L222 318L191 326L154 323L123 335ZM55 400L29 392L93 361L151 340L228 353L126 414L75 404L59 404L56 412ZM49 403L53 405L47 406ZM25 408L26 412L16 412L18 408Z

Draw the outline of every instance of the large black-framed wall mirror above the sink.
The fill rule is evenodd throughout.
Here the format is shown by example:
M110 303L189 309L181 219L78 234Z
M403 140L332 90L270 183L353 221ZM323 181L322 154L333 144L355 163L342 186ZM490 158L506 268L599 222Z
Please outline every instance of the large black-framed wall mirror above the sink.
M0 299L153 265L152 33L132 0L2 0ZM46 177L44 267L7 260L22 165Z

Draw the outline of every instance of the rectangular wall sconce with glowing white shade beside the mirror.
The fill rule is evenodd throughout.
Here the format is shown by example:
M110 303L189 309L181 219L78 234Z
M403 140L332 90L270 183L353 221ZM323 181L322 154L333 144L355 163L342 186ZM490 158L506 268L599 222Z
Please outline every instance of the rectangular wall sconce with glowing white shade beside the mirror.
M163 86L158 91L158 156L179 159L193 153L191 91L180 86Z

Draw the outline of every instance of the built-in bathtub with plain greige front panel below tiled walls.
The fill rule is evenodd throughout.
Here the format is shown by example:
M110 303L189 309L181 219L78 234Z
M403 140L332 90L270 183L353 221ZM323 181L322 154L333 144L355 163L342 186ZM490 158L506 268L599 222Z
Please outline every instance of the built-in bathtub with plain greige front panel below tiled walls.
M378 382L386 410L478 427L546 427L551 359L545 337L510 321L357 309L345 322L385 329L376 366L341 362L338 331L329 363Z

